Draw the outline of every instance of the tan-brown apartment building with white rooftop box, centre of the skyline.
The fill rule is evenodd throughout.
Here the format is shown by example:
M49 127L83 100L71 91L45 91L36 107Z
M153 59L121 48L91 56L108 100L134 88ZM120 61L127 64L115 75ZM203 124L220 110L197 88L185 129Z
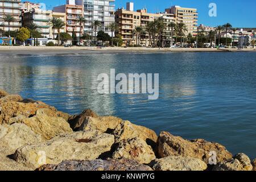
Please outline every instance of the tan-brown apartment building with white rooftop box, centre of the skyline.
M115 22L119 26L119 34L125 44L137 44L134 29L138 26L145 27L148 22L159 18L160 14L147 13L146 9L134 11L133 3L127 3L126 9L115 11ZM145 34L141 39L141 45L149 46L149 36Z

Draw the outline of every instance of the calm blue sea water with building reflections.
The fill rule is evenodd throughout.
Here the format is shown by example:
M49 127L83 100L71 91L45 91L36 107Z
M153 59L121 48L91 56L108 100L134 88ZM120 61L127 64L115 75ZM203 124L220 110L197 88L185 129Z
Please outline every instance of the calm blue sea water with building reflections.
M159 99L98 94L98 73L159 73ZM256 53L0 55L0 88L70 114L91 108L157 133L224 144L256 157Z

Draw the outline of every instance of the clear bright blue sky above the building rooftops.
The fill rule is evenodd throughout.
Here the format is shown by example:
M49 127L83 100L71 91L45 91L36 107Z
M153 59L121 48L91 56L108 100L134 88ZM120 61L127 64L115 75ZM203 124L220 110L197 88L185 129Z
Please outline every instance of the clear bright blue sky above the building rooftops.
M30 0L31 2L46 3L47 9L63 5L65 0ZM126 2L134 2L134 9L147 8L148 13L164 12L164 9L179 5L196 8L199 13L199 24L218 26L230 23L233 27L256 27L255 0L115 0L115 7L125 7ZM209 16L209 4L215 3L217 16Z

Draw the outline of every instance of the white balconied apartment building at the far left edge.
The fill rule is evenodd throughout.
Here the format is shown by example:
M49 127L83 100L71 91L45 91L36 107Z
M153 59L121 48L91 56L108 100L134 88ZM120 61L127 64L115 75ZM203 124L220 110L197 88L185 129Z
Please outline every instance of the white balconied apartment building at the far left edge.
M14 16L14 22L10 22L10 31L18 30L21 27L20 0L0 0L0 29L8 31L8 23L4 22L5 15Z

